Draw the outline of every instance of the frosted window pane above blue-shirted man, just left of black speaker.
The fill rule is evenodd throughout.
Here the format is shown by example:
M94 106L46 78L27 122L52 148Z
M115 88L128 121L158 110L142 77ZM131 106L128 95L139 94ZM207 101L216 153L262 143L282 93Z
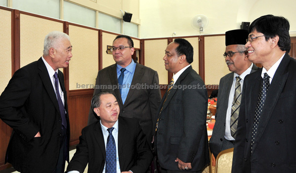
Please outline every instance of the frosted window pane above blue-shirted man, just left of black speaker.
M99 29L121 34L121 20L103 13L98 15Z

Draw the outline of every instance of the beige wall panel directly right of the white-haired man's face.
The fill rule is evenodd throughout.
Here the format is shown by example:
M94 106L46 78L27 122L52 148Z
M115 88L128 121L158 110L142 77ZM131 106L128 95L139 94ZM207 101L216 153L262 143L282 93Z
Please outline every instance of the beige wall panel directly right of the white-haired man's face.
M73 46L69 90L93 88L99 70L99 32L69 25L69 36Z

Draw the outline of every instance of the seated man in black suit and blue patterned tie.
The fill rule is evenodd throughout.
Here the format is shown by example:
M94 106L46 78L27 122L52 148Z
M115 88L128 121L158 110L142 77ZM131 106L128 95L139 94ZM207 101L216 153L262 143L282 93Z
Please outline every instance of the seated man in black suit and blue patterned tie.
M149 145L137 120L119 117L119 105L109 91L93 96L100 121L82 129L80 142L67 173L145 173L152 160Z

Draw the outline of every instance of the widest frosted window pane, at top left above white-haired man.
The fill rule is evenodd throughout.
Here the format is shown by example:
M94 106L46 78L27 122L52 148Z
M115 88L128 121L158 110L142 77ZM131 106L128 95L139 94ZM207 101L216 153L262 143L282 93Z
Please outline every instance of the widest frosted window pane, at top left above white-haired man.
M12 8L60 19L60 0L12 0Z

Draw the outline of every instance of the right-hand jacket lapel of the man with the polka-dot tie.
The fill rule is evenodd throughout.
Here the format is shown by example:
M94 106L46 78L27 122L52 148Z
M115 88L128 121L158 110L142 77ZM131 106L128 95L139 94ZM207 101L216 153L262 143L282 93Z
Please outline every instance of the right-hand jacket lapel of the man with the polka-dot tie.
M259 121L259 125L258 125L257 134L255 137L255 145L254 145L253 150L256 149L257 143L259 142L259 140L260 140L260 138L267 126L267 123L270 119L272 111L273 111L273 109L278 101L278 98L279 98L280 94L282 93L282 90L285 86L286 80L289 75L289 72L286 72L289 62L290 62L289 56L287 56L287 54L286 54L284 56L282 62L280 63L279 67L277 68L277 70L273 76L273 79L271 81L271 84L268 88L268 92L267 92L266 99L264 102L263 110L260 115L260 121Z

